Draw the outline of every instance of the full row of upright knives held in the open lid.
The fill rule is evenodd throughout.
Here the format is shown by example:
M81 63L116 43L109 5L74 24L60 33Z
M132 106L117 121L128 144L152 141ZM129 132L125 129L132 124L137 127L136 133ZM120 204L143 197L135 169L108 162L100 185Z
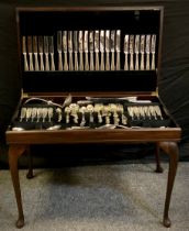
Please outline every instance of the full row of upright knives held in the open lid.
M57 31L56 42L55 35L22 36L22 53L24 70L120 70L122 54L122 69L149 70L156 35L125 34L122 46L121 30Z

